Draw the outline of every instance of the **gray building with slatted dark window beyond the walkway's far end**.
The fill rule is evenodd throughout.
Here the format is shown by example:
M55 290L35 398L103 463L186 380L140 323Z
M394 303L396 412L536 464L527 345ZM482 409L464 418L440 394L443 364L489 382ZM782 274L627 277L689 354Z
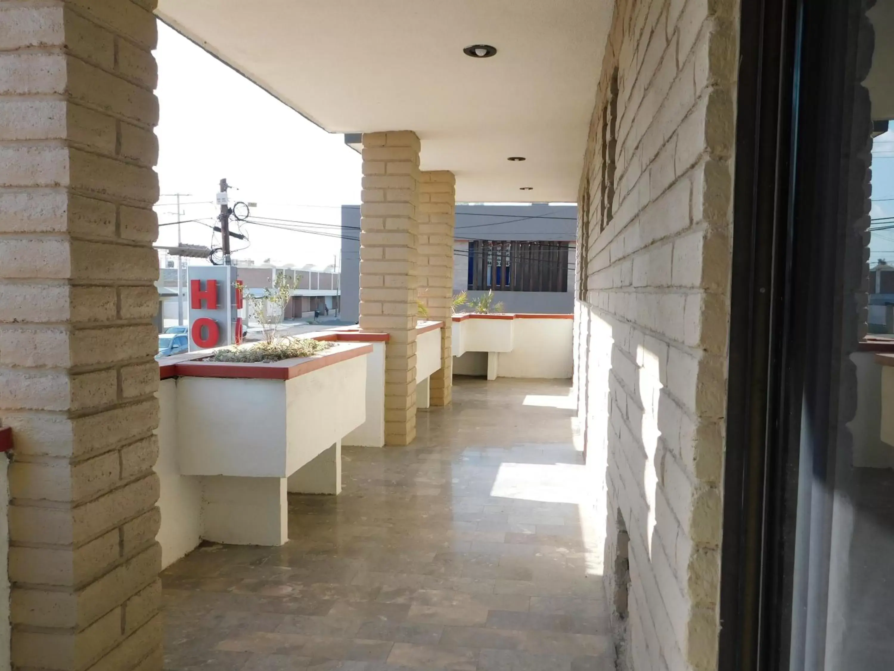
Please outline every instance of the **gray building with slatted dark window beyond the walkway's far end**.
M507 312L574 311L573 205L458 205L453 293L493 290ZM342 207L342 319L356 321L360 288L360 209ZM513 270L514 268L514 270Z

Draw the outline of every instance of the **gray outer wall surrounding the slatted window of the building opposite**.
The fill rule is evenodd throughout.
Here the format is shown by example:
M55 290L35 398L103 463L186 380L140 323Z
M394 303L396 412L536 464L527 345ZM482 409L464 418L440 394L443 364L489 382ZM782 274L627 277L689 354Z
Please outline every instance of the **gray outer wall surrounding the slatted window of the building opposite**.
M578 208L573 205L457 205L453 245L453 293L468 286L468 241L536 240L575 242ZM360 310L360 208L342 206L342 319ZM494 292L507 312L569 314L574 309L574 259L569 251L569 291ZM468 292L477 297L485 292Z

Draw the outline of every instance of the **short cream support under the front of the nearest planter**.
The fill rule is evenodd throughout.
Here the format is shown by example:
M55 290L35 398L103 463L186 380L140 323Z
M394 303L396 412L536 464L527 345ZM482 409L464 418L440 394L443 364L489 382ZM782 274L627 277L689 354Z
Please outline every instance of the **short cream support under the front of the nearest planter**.
M289 540L285 478L215 475L202 480L203 539L270 546Z

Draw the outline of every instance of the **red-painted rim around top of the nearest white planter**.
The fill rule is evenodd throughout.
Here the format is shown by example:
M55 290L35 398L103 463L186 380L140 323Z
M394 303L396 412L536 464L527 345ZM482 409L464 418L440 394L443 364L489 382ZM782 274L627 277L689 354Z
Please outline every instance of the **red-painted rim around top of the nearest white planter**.
M371 344L345 343L336 349L303 359L285 359L274 363L228 363L198 361L207 353L196 352L189 358L159 366L161 379L167 378L241 378L287 380L324 369L373 352Z

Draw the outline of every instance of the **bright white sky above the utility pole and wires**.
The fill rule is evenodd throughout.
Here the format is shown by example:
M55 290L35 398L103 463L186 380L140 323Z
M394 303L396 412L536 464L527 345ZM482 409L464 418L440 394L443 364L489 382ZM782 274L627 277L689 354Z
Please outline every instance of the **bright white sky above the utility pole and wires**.
M344 144L344 136L309 122L161 21L155 55L159 223L177 221L173 194L189 194L181 196L181 219L205 220L182 224L182 242L209 246L208 226L220 211L215 194L225 177L234 187L231 205L257 202L251 217L319 224L267 221L290 230L243 224L249 247L240 250L246 242L232 240L234 259L332 265L341 251L333 226L341 223L342 203L360 199L360 157ZM156 244L176 243L177 226L160 226ZM214 246L220 246L219 234Z

